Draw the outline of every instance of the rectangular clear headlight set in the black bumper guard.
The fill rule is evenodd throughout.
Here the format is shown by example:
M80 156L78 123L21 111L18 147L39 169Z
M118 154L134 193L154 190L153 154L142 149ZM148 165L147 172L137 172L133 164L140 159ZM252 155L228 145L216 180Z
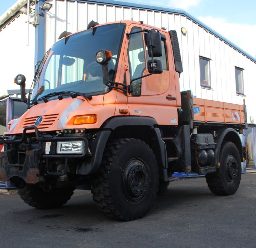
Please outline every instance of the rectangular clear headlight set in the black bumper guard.
M58 141L57 153L58 154L70 154L70 153L84 153L85 143L81 141Z

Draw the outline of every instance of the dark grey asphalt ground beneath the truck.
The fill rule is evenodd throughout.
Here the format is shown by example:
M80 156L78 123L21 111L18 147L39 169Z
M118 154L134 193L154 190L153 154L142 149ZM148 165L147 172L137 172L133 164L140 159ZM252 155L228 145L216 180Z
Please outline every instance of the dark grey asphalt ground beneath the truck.
M89 191L62 208L39 210L0 195L0 247L256 247L256 173L232 196L212 194L205 178L173 181L142 219L121 222L98 211Z

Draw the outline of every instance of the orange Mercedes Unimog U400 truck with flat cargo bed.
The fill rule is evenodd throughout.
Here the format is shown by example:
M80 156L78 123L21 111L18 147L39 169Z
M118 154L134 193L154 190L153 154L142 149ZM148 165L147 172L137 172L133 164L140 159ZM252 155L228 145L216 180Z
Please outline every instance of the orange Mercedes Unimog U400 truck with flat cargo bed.
M174 172L205 174L234 194L245 152L246 107L180 92L176 31L120 21L63 32L39 63L28 111L1 137L0 181L30 206L65 204L91 189L106 215L142 217Z

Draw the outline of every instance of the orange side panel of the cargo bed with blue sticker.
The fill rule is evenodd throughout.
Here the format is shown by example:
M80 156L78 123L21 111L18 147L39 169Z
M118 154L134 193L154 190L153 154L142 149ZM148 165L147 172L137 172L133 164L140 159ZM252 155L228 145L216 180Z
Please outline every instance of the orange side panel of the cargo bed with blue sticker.
M194 121L244 124L243 105L193 98Z

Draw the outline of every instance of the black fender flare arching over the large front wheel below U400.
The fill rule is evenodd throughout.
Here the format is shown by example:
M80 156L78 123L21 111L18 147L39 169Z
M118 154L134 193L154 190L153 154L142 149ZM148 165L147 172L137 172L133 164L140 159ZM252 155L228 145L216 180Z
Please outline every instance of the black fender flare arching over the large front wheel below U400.
M162 140L161 133L159 128L155 127L157 125L157 121L150 117L141 117L141 116L119 116L113 117L111 119L106 120L102 126L99 135L96 138L96 144L93 146L92 152L92 160L90 164L84 166L81 170L81 174L91 174L96 172L99 169L101 164L101 160L103 157L103 151L106 147L107 141L110 137L111 131L120 127L120 126L149 126L155 132L155 137L158 143L158 149L160 152L161 166L163 168L163 176L164 181L168 181L167 179L167 151L165 142Z

